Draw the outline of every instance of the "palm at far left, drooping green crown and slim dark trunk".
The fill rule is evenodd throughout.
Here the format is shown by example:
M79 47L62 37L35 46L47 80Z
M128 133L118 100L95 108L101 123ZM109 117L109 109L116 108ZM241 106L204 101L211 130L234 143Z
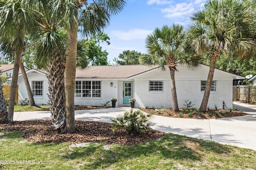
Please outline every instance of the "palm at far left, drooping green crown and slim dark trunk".
M27 28L31 27L30 3L26 0L7 0L0 3L0 43L14 45L14 69L10 90L8 121L13 122L15 93L18 82L21 55L24 48L24 36Z

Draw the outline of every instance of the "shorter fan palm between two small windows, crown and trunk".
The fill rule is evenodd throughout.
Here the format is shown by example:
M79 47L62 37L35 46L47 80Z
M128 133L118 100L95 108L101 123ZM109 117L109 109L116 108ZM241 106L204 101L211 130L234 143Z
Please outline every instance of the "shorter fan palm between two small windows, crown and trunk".
M197 67L198 59L196 57L184 56L184 47L186 47L186 32L182 25L173 24L171 27L164 25L161 29L158 27L154 32L146 37L147 55L142 55L141 63L147 65L159 65L165 70L167 65L170 70L173 111L179 111L176 94L174 74L177 70L177 63L181 62L188 66Z

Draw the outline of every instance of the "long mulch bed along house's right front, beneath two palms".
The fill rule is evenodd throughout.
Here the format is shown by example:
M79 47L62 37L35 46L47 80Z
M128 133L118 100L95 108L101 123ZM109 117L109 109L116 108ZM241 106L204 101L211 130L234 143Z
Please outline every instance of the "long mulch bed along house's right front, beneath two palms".
M140 110L159 116L166 117L176 117L176 118L190 118L190 119L216 119L224 117L235 117L247 115L242 111L237 110L224 110L224 109L208 109L206 112L199 112L197 109L180 109L180 111L175 112L171 109L146 109L140 108Z

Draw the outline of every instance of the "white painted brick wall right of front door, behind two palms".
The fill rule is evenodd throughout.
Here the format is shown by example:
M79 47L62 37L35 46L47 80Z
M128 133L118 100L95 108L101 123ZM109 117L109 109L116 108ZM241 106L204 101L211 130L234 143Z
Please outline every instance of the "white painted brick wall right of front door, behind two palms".
M200 107L204 92L201 92L201 80L176 80L178 106L185 107L185 100L191 101L193 107ZM149 92L148 80L134 81L135 107L172 107L172 93L170 80L164 80L164 92ZM208 106L219 109L224 101L228 108L232 107L232 80L217 80L216 92L210 93ZM227 108L226 108L227 109Z

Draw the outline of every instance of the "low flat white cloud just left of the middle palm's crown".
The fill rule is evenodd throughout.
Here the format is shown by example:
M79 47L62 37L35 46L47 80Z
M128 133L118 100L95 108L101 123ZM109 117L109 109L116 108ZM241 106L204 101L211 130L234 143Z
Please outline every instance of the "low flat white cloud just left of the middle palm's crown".
M114 30L110 32L110 36L116 37L122 40L132 40L132 39L145 39L147 35L152 33L151 30L144 30L144 29L131 29L127 32Z

